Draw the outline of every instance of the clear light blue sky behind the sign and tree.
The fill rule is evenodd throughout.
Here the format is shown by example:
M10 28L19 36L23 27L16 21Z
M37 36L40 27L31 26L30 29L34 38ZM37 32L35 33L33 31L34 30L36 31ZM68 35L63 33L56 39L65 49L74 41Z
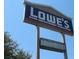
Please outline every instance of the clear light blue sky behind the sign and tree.
M73 0L29 0L31 2L52 6L63 14L72 18L73 22ZM4 1L4 31L11 34L12 39L19 44L26 52L32 54L32 59L36 59L36 27L24 23L24 5L23 0L5 0ZM40 28L40 37L62 41L62 36L58 32ZM68 35L66 37L68 59L74 59L74 38ZM40 59L64 59L63 53L47 51L40 49Z

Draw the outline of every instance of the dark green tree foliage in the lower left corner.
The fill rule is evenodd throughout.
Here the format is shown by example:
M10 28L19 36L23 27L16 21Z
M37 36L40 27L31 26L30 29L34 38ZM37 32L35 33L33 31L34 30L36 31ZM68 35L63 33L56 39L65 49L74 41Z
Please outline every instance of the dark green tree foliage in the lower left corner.
M18 45L12 40L10 35L4 33L4 59L31 59L31 55L18 49Z

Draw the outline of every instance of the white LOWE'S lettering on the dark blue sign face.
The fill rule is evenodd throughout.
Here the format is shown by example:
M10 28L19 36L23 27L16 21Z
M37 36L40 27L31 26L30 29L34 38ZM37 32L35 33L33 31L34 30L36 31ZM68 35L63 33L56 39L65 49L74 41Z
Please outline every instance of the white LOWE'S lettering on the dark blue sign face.
M30 10L30 17L35 19L35 20L40 20L40 21L44 21L46 23L50 23L51 25L55 25L58 26L60 28L64 28L69 30L69 24L68 21L64 20L63 18L54 16L52 14L43 12L43 11L35 11L35 9L33 7L31 7ZM63 27L63 23L65 24Z

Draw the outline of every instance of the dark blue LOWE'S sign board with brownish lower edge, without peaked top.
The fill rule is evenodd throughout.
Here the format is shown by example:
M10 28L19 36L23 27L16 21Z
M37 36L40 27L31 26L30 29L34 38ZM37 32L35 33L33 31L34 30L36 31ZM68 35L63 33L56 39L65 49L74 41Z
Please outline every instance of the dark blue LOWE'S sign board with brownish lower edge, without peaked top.
M49 13L31 5L26 5L24 21L40 27L73 35L72 22L70 19L54 15L51 12Z

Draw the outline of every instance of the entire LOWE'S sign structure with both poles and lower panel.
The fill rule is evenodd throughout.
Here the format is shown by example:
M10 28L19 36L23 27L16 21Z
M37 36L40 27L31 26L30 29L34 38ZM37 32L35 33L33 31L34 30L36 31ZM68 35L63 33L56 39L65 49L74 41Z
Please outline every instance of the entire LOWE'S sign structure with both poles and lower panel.
M40 48L56 52L63 52L64 59L68 59L65 34L73 36L72 22L69 17L63 15L51 7L25 2L24 22L33 24L37 28L36 59L40 59ZM61 33L64 43L40 38L39 27Z

